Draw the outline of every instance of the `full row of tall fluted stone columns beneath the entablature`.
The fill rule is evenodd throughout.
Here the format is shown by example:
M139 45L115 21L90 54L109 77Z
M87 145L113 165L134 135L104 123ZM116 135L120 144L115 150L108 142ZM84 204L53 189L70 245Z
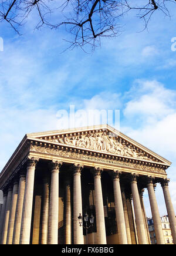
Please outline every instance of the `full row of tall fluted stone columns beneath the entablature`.
M0 240L1 244L29 244L31 237L32 207L33 207L33 190L35 180L35 170L39 159L28 160L26 175L24 172L19 173L19 179L13 180L8 188L4 191L4 204L0 213ZM59 170L62 161L51 161L50 184L44 177L43 188L43 214L40 241L42 244L58 243L58 215L59 215ZM83 166L74 164L73 170L73 230L72 230L72 209L70 203L70 181L66 178L66 200L65 200L65 243L72 243L72 233L74 244L84 244L83 227L79 225L78 216L82 213L82 183L81 174ZM106 244L106 225L104 221L103 193L101 187L100 167L92 168L94 177L94 206L96 211L96 243ZM121 172L111 170L113 179L114 204L116 213L117 230L119 244L131 244L134 238L130 235L131 222L130 214L127 214L127 205L123 186L121 186ZM133 198L134 208L134 230L136 229L136 243L150 244L148 225L146 222L143 198L139 192L138 175L128 173L130 178L130 190ZM148 196L150 200L151 213L153 215L155 235L157 244L165 244L164 235L161 226L160 213L157 206L157 200L154 191L154 178L145 176ZM168 190L168 180L161 179L161 186L167 207L168 218L174 244L176 244L176 223L174 209L171 203L171 197Z

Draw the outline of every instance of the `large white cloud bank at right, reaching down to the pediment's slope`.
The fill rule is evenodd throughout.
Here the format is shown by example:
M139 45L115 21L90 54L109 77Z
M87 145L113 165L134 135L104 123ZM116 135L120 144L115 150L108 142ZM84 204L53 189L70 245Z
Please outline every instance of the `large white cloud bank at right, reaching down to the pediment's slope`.
M176 92L157 81L138 80L130 90L123 110L128 120L137 119L138 127L124 127L131 137L161 153L176 153ZM135 126L135 124L134 124Z

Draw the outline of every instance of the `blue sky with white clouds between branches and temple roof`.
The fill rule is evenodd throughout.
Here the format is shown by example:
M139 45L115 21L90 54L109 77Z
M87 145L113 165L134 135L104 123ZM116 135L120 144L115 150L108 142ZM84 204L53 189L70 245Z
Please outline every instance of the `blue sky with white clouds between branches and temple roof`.
M89 54L63 52L64 29L33 31L35 15L22 36L1 23L0 169L25 133L62 128L60 109L119 109L121 132L172 162L167 173L176 211L175 11L172 5L171 18L156 14L143 32L140 19L126 15L121 34ZM160 214L167 214L160 184L156 195ZM147 192L144 201L151 215Z

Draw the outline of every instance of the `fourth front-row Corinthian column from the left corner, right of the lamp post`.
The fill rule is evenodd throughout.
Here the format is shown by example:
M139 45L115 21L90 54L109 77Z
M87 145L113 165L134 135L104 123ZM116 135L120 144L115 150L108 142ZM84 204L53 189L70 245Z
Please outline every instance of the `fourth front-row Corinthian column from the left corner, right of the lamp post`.
M106 228L104 221L103 194L101 189L102 169L94 167L94 204L96 210L97 244L106 244Z

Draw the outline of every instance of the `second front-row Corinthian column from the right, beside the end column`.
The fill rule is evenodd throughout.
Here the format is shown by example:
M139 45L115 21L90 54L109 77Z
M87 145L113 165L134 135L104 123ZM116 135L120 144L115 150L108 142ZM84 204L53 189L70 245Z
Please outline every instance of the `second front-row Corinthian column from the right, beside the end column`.
M151 177L148 178L147 189L148 189L151 213L152 213L153 223L154 223L154 228L155 228L155 235L157 238L157 244L165 244L163 228L161 225L160 213L158 210L157 200L156 200L155 192L154 192L153 178L151 178Z

